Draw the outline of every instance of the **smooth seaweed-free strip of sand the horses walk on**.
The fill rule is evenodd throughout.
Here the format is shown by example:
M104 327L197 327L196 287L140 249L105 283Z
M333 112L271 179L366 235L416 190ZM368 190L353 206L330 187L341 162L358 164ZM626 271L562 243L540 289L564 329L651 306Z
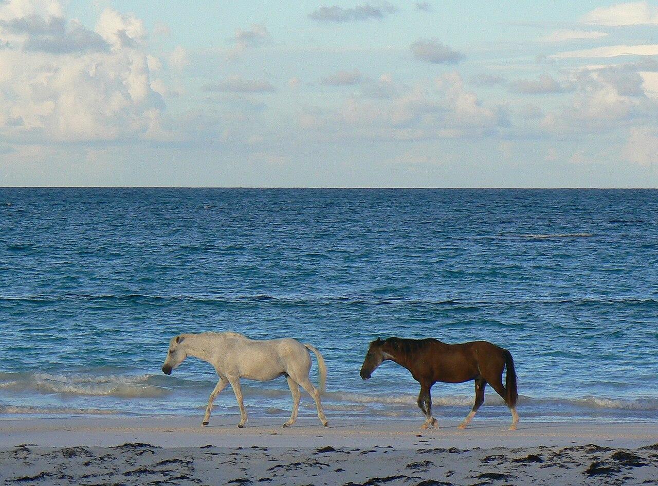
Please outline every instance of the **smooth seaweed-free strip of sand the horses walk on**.
M0 419L0 448L31 443L39 446L116 446L150 443L179 446L362 446L393 445L413 448L419 440L457 447L569 446L595 443L640 447L658 443L655 421L524 421L509 431L509 421L477 418L462 431L459 421L440 420L436 430L420 431L422 419L330 419L322 427L316 418L300 418L290 428L285 419L252 418L238 429L238 418L211 418L201 427L201 416Z

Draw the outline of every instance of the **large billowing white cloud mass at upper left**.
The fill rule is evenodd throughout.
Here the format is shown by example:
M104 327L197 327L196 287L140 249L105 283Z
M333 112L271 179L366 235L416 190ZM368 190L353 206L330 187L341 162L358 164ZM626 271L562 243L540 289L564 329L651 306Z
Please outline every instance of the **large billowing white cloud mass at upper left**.
M0 5L0 138L14 144L153 138L164 117L161 68L143 22L103 11L94 31L55 0ZM152 84L152 82L154 84Z

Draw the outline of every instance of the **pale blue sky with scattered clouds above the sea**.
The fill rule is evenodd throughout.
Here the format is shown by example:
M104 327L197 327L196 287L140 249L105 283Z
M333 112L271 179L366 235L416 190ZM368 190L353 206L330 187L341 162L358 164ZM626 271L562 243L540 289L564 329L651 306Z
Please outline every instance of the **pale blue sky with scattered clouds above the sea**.
M658 1L0 0L0 186L658 187Z

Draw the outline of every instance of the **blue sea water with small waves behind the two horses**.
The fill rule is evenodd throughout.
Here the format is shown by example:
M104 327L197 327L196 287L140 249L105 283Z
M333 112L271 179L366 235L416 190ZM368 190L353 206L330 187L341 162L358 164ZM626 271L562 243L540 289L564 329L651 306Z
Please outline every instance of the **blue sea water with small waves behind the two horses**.
M658 419L658 191L0 188L1 416L200 417L215 372L163 375L168 339L225 330L317 346L329 418L420 418L405 369L359 377L399 336L509 349L522 418ZM284 379L243 390L290 414Z

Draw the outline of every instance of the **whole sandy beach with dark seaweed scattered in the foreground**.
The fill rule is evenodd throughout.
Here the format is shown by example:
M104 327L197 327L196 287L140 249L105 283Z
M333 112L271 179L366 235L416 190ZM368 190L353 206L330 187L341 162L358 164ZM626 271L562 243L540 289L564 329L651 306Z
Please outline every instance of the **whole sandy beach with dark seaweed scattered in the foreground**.
M656 484L658 424L67 418L0 421L0 480L36 485Z

